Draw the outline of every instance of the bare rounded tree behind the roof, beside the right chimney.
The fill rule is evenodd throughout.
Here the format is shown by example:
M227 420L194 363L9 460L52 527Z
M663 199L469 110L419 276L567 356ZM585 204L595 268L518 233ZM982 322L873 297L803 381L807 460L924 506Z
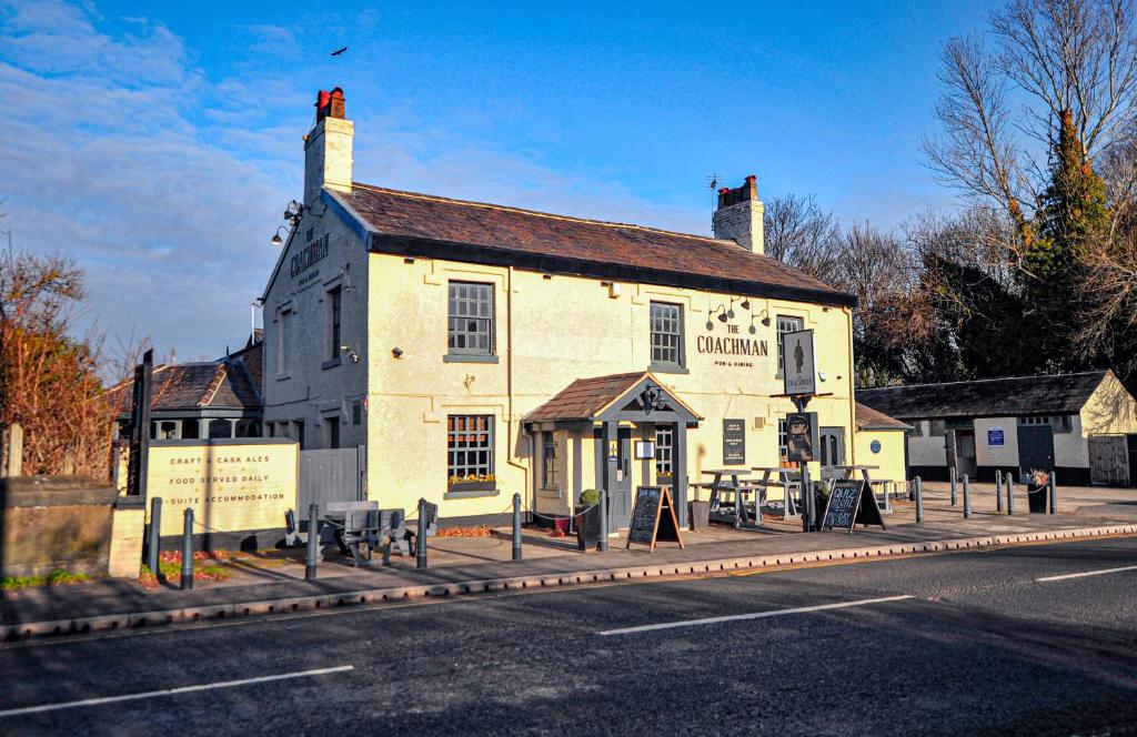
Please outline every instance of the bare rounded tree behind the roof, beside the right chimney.
M823 282L836 281L841 232L837 217L816 199L783 194L771 198L763 217L767 256Z

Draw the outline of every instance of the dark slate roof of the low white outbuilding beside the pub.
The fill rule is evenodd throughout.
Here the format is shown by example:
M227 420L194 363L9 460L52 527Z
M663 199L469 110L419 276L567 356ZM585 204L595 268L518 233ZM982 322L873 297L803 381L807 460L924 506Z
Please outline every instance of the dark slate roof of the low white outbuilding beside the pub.
M1104 371L858 389L857 401L905 419L993 417L1079 412Z

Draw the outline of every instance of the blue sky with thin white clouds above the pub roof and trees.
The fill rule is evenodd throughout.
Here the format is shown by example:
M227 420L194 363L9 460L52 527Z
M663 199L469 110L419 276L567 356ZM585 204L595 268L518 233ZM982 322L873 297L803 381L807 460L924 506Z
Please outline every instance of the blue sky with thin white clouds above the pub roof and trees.
M86 268L88 322L214 357L334 85L359 181L706 233L707 176L754 173L891 227L955 202L920 142L991 7L0 0L0 229Z

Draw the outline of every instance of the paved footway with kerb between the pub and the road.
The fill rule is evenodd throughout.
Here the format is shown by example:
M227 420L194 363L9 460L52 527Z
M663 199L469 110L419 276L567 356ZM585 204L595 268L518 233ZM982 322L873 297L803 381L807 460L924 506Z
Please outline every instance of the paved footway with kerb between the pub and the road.
M356 570L335 563L335 557L330 555L329 563L321 566L316 582L304 580L304 566L296 560L282 561L277 552L263 552L235 563L231 569L235 572L234 579L227 585L208 586L199 581L193 591L174 588L147 590L134 581L108 579L77 586L0 593L0 632L5 624L15 623L63 621L61 629L67 630L75 626L70 621L80 618L243 606L269 599L338 596L351 591L455 585L509 577L571 577L631 566L690 566L712 561L736 561L741 566L777 565L819 552L840 556L846 553L852 555L853 549L875 546L887 554L894 545L911 546L982 536L1044 535L1111 524L1106 517L1026 513L1014 517L979 513L971 520L963 520L960 511L938 508L933 503L928 505L928 521L914 524L911 504L898 503L895 508L895 513L887 516L887 530L857 528L853 536L838 531L803 535L799 523L771 524L762 532L740 532L713 525L709 532L684 535L686 549L663 543L654 554L645 546L625 550L620 540L613 540L609 552L603 555L581 554L567 540L551 540L530 532L526 535L525 560L512 562L509 541L503 538L437 538L431 541L431 568L428 570L416 570L413 560L404 558L396 558L396 565L390 569ZM150 621L155 621L153 618ZM50 626L48 631L53 627Z

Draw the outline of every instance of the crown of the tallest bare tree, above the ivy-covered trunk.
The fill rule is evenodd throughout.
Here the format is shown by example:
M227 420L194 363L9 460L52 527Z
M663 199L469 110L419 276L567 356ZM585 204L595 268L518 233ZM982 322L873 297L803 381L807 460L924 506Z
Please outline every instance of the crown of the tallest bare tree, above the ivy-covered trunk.
M1012 0L990 23L993 49L945 44L944 135L924 151L943 181L1011 220L1018 255L1035 238L1063 115L1092 160L1137 114L1137 25L1132 0Z

